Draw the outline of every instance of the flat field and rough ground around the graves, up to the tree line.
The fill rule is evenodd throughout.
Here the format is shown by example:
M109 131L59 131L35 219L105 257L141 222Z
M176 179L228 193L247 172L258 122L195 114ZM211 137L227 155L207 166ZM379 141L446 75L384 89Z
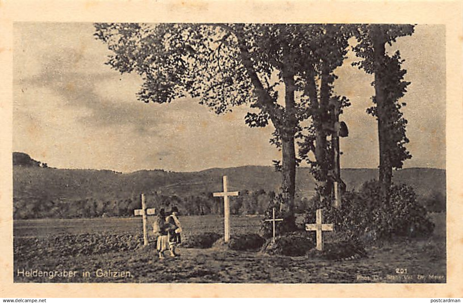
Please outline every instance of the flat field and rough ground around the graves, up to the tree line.
M231 233L258 233L261 219L232 216ZM429 239L393 239L369 247L367 259L342 261L223 248L180 248L179 259L159 260L152 248L140 248L141 218L15 220L14 281L445 283L445 214L434 214L432 219L436 229ZM181 217L183 239L205 232L222 234L222 220ZM47 276L31 277L40 271Z

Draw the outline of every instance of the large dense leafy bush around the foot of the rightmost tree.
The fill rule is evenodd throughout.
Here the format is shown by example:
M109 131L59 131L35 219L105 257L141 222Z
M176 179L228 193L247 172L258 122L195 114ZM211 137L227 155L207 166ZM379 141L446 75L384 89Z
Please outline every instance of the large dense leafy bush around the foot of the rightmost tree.
M413 188L404 184L393 185L389 196L389 202L385 202L380 183L366 182L360 191L346 192L340 208L332 207L332 201L315 200L305 222L315 222L316 209L323 208L323 222L334 224L336 232L344 235L344 239L369 242L432 233L434 224L426 209L417 203Z

